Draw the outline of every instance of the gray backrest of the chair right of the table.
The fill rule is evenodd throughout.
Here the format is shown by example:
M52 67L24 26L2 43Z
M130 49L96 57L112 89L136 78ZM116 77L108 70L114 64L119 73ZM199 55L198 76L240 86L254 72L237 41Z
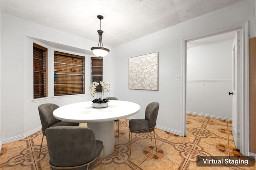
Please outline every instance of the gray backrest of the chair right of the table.
M152 102L148 104L145 111L145 119L149 121L149 127L154 127L156 125L156 118L158 115L159 103Z

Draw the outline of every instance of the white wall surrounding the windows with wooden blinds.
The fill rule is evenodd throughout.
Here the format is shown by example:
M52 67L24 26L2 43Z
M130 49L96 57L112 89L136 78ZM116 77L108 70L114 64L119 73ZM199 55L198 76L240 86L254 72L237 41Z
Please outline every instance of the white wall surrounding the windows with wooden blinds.
M91 100L90 52L97 42L44 27L36 23L2 14L2 142L22 139L41 129L38 106L55 103L59 106ZM33 42L48 48L48 98L33 100ZM104 58L108 63L110 54ZM86 56L86 94L54 97L54 50ZM107 66L105 66L106 68ZM108 79L108 74L104 75ZM111 82L110 82L111 83Z

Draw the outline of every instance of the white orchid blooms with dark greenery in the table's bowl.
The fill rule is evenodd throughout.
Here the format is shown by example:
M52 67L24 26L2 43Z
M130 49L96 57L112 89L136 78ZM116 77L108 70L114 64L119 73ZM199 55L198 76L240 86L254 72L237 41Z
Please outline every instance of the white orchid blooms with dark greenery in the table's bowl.
M96 87L98 85L102 86L102 92L97 92L96 91ZM103 99L104 98L103 96L104 96L104 93L110 94L110 91L111 91L110 83L104 82L104 81L101 81L100 83L93 82L90 85L90 94L93 98L94 98L95 94L97 94L97 98L94 99L92 102L93 103L106 103L106 102L108 102L108 100Z

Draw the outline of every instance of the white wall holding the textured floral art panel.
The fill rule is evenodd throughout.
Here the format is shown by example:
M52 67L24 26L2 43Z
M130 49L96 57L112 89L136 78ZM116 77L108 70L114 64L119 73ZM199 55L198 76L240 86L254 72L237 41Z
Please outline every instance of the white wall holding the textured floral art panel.
M159 102L157 127L181 134L182 131L182 39L192 39L227 29L249 20L249 36L254 37L254 0L243 1L228 8L206 14L173 27L114 48L116 66L116 97L134 101L141 106L134 118L144 118L144 110L149 102ZM128 59L158 51L158 91L128 89ZM180 80L175 80L180 75Z

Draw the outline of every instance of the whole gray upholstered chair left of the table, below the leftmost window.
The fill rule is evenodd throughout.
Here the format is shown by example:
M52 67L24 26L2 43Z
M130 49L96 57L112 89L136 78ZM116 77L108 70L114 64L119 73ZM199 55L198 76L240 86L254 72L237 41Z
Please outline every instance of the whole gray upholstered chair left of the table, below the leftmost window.
M42 137L42 142L41 142L41 147L40 147L40 152L39 152L39 158L40 158L40 154L41 154L41 150L42 150L42 144L43 144L43 140L44 140L44 136L45 136L45 130L48 127L53 127L53 126L78 126L79 123L73 123L73 122L67 122L67 121L61 121L59 119L56 119L52 112L57 109L59 106L56 104L41 104L40 106L38 106L38 111L39 111L39 115L40 115L40 120L41 120L41 124L42 124L42 133L43 133L43 137Z

